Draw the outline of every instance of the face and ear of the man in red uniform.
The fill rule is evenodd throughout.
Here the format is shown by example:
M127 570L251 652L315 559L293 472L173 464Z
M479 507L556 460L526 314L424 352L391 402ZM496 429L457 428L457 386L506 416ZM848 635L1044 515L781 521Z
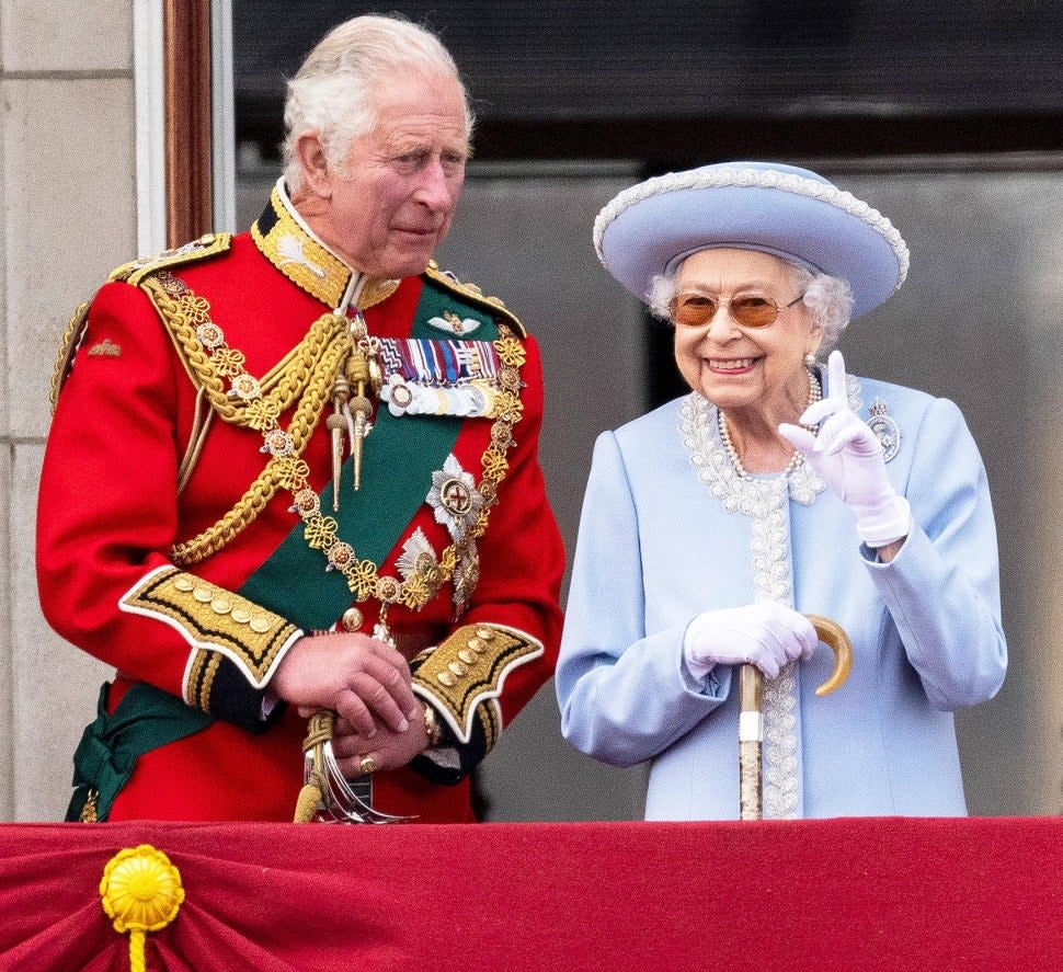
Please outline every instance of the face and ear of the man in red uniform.
M468 129L456 79L381 79L376 125L351 142L343 171L317 133L296 152L304 172L293 203L346 263L373 277L421 273L443 242L465 182Z

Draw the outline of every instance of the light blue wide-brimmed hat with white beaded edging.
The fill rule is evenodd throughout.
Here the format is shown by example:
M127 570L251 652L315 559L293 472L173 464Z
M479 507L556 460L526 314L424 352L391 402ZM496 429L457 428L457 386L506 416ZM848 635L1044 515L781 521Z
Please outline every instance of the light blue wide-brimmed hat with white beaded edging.
M885 300L908 270L908 248L881 213L808 169L721 162L625 190L594 221L605 268L640 300L656 274L691 253L759 250L853 288L853 317Z

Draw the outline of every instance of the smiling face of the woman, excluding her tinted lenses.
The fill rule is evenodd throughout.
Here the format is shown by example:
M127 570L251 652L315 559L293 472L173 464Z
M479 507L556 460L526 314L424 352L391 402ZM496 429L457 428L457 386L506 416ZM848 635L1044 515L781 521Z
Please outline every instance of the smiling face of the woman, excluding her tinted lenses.
M786 307L800 296L789 265L755 250L702 250L683 261L676 294L720 305L701 327L676 325L675 363L690 388L729 415L796 421L807 404L804 356L819 347L822 331L803 304ZM728 307L736 297L769 298L778 317L763 328L739 324Z

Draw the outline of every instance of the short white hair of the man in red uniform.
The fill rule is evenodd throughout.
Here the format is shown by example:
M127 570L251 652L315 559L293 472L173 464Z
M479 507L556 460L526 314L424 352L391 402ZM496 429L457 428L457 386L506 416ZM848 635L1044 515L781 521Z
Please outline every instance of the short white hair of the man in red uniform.
M284 104L284 178L302 184L299 137L317 131L330 168L343 172L351 142L376 124L378 84L397 73L454 78L465 101L467 137L473 117L454 58L433 33L398 15L356 16L330 31L288 81Z

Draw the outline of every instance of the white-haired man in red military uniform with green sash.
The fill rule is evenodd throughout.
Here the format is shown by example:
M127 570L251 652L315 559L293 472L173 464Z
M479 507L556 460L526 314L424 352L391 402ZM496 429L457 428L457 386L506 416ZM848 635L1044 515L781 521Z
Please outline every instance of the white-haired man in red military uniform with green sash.
M117 670L71 819L290 820L333 712L321 814L472 820L469 771L552 670L538 353L432 259L469 151L455 65L356 18L285 123L249 233L121 267L64 341L41 599Z

